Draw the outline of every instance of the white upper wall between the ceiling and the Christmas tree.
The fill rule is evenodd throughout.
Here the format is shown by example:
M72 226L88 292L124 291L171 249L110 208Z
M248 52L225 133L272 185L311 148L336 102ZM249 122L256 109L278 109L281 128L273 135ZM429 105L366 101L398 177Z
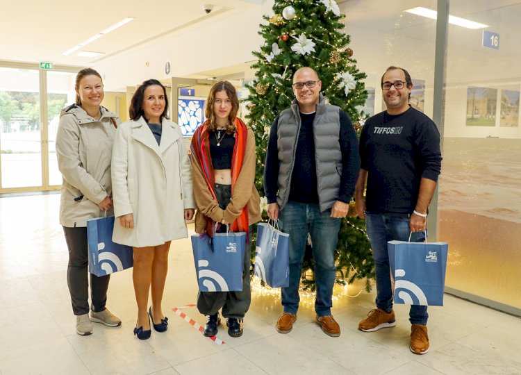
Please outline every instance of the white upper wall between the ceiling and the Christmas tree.
M106 90L124 91L149 78L188 76L198 72L243 64L254 60L251 51L263 43L258 25L272 13L273 0L244 12L230 11L212 24L195 26L183 33L165 36L94 65ZM171 72L165 74L169 61Z

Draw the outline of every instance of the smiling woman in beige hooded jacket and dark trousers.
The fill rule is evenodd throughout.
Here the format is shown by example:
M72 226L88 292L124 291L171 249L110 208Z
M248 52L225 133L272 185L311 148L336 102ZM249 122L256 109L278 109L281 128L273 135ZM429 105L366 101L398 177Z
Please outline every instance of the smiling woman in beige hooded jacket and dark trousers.
M121 324L105 307L110 275L90 274L89 308L87 242L87 220L101 217L103 211L112 213L110 161L116 126L121 121L100 106L103 82L94 69L78 72L75 89L76 103L62 111L56 134L58 168L63 176L60 224L69 249L67 285L76 315L76 333L90 335L91 322L110 327Z

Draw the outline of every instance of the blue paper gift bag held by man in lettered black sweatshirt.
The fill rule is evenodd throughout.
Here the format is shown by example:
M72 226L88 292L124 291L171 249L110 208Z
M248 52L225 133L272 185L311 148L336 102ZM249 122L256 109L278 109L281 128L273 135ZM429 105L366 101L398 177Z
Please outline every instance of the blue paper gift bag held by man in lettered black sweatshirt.
M389 241L395 303L443 306L447 242Z

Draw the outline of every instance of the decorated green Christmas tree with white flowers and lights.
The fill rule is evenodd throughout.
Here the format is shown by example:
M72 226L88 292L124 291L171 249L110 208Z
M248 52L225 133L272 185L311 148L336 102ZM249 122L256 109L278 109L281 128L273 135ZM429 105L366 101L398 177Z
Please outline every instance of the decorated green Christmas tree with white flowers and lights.
M254 51L258 58L252 65L256 78L247 85L246 99L247 123L256 134L256 188L261 196L270 126L282 110L290 107L294 98L292 76L300 67L315 69L326 100L344 110L356 131L360 131L365 115L357 108L367 99L362 81L365 74L357 69L353 51L347 47L349 35L342 32L344 17L334 0L276 0L273 15L263 17L266 23L261 24L259 34L264 44L260 51ZM311 251L306 253L303 270L313 271ZM352 283L360 278L365 279L366 290L371 289L374 263L365 223L354 215L342 219L336 260L339 283ZM303 281L314 289L313 278Z

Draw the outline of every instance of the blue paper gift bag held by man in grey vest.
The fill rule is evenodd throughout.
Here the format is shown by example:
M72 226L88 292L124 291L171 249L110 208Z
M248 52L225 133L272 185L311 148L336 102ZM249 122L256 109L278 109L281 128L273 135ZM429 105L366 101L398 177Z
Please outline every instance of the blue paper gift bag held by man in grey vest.
M269 223L257 226L255 274L272 288L290 285L290 235Z

